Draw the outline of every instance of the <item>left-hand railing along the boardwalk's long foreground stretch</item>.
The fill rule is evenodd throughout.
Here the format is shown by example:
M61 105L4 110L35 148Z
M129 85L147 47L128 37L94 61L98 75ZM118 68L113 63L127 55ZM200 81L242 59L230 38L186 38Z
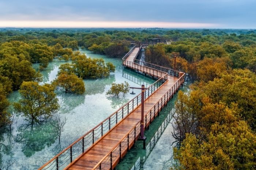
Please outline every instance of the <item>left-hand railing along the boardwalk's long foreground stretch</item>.
M144 98L147 99L154 93L163 83L167 81L167 74L159 78L155 83L151 84L145 92ZM139 106L141 103L141 94L135 96L129 102L124 104L121 108L111 114L108 118L103 120L89 132L77 139L66 149L61 151L58 155L53 157L50 161L45 163L39 169L63 169L69 163L73 162L80 154L89 149L95 142L98 141L104 134L116 125L120 120L124 119L132 110Z

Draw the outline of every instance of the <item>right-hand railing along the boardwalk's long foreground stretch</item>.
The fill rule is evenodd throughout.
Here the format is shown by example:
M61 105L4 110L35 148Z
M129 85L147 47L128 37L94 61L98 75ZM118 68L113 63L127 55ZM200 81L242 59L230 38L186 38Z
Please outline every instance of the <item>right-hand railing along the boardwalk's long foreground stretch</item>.
M184 75L178 81L172 86L172 89L166 92L162 96L160 100L158 100L158 103L156 103L149 112L147 112L144 122L146 126L144 128L146 129L147 126L151 123L151 120L155 118L155 116L159 115L159 111L167 104L167 102L170 100L170 98L173 96L174 92L178 90L178 88L181 86L181 84L184 82ZM124 157L125 153L131 148L131 145L135 144L137 135L140 133L140 121L136 123L136 125L133 127L129 133L127 133L121 142L119 142L116 146L112 147L111 151L105 155L97 163L97 165L94 166L93 170L102 170L102 169L112 169L112 167L115 167L118 162L121 161L121 159Z

